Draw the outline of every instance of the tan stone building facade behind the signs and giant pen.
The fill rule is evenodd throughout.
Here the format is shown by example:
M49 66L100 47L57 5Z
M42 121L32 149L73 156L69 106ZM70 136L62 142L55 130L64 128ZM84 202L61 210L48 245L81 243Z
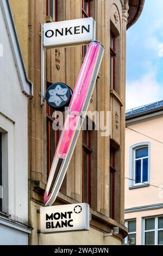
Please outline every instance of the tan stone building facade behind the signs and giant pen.
M10 0L34 96L28 107L29 220L31 245L121 244L124 227L124 127L126 30L140 16L144 1L127 0ZM130 9L129 9L130 7ZM96 40L105 48L89 111L110 111L110 136L96 129L81 131L70 166L54 204L86 202L92 215L90 231L39 234L43 193L59 131L52 129L53 110L40 105L42 23L93 17ZM73 90L86 46L46 50L45 90L63 82ZM88 119L91 119L89 116ZM106 121L106 120L105 120ZM118 235L105 236L113 227Z

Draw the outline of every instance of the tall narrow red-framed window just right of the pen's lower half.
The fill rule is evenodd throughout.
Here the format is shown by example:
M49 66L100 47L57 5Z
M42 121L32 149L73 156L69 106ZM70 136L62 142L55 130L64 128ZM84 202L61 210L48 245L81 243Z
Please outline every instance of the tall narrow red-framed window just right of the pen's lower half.
M91 205L91 131L83 131L83 202Z

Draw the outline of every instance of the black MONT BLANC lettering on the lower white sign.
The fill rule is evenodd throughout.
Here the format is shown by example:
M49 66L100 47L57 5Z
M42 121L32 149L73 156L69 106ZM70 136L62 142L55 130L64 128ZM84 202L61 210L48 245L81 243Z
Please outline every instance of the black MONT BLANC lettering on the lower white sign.
M46 214L46 228L73 227L72 211Z

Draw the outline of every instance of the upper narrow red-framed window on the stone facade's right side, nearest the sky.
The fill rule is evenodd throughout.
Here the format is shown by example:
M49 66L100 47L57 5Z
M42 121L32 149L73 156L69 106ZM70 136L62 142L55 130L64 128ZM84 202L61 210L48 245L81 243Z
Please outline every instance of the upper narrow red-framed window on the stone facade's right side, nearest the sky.
M115 89L115 35L110 34L110 88Z

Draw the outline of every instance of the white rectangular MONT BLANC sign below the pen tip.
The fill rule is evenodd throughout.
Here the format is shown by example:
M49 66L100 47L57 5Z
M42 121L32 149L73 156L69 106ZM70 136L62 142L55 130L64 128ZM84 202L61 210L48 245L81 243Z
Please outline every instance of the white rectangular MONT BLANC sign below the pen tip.
M89 204L65 204L40 208L41 233L89 230Z

